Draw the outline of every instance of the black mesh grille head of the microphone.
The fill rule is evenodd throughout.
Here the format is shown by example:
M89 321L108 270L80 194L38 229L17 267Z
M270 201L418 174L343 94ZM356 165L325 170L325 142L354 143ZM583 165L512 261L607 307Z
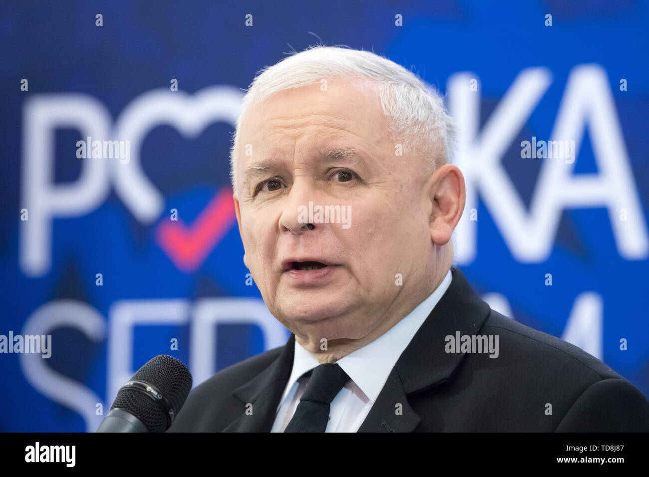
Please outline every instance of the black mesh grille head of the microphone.
M156 387L169 400L174 415L178 414L191 391L191 374L187 367L173 356L160 354L151 358L131 381L141 381ZM147 426L149 432L165 432L167 415L151 397L134 389L123 389L117 393L110 409L129 411Z

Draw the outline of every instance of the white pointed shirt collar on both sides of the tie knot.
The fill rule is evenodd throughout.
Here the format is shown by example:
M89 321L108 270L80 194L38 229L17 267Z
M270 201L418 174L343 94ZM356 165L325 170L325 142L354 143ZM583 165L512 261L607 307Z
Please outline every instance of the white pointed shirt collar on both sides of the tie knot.
M417 308L408 313L404 319L371 343L336 361L371 402L376 401L376 398L378 398L381 389L386 384L387 376L389 376L392 368L397 363L399 356L408 347L419 327L426 321L439 299L447 291L451 280L452 274L449 270L435 291L421 302ZM284 395L280 399L278 409L284 403L293 384L299 380L300 376L320 364L310 352L297 343L297 340L294 340L294 342L293 369L286 388L284 388Z

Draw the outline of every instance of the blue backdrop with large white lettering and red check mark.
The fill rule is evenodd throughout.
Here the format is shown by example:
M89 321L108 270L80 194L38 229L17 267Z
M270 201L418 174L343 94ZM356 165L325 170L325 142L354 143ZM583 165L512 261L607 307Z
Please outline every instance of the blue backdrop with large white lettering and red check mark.
M197 385L286 341L243 265L228 147L241 88L319 42L385 55L447 95L465 131L456 250L471 285L649 393L647 3L0 11L0 334L52 337L49 359L0 354L1 431L93 431L156 354ZM77 157L88 136L129 138L129 162ZM574 141L574 164L523 157L532 140Z

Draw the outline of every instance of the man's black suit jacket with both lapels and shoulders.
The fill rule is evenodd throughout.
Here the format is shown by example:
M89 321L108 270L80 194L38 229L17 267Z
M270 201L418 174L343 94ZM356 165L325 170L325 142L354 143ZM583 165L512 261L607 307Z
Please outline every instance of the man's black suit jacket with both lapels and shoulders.
M566 341L491 310L457 268L452 275L358 432L649 431L649 402L622 376ZM498 335L498 358L447 353L445 337L457 331ZM197 386L169 432L269 432L294 340L291 334L284 347Z

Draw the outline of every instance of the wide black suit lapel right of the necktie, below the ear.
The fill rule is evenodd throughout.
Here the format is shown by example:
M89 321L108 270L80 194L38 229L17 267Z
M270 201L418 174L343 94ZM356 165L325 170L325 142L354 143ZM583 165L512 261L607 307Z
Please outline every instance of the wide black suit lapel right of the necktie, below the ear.
M421 419L406 397L446 382L464 357L445 352L445 337L456 336L458 331L461 335L480 332L491 311L489 305L457 268L451 273L446 293L402 352L358 432L413 432Z

